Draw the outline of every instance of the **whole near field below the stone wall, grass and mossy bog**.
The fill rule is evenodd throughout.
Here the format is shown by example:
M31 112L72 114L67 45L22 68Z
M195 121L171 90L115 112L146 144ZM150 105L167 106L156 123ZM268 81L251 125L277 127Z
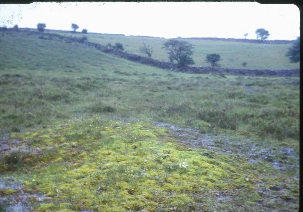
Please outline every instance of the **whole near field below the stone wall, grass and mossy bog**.
M298 77L171 72L2 34L0 211L21 188L30 211L297 210Z

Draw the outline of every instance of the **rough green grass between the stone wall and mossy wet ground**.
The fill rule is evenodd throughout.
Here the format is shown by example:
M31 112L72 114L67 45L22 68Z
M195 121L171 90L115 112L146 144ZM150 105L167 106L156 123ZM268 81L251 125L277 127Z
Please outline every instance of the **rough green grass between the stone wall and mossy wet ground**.
M10 55L2 63L0 79L2 129L115 113L194 128L195 122L205 121L211 127L201 130L207 132L245 130L279 140L299 136L298 77L223 78L170 72L60 39L45 41L17 33L2 39L6 51L0 56ZM54 57L56 62L47 63ZM32 63L24 64L28 60ZM31 70L36 64L42 65Z

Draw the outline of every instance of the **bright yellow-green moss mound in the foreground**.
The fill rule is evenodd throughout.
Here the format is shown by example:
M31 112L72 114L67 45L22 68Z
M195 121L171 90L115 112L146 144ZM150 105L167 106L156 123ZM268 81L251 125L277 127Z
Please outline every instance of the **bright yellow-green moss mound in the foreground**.
M28 191L51 197L37 211L188 211L197 207L195 195L205 189L252 189L248 176L224 162L226 156L213 153L210 158L180 148L165 128L146 122L96 117L11 135L15 137L38 139L32 148L44 150L27 158L34 165L20 169Z

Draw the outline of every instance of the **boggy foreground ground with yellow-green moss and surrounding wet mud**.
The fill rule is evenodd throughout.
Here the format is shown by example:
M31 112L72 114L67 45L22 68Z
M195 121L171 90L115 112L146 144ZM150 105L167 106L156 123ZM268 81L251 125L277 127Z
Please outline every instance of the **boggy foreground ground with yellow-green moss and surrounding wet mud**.
M0 163L2 210L298 210L298 151L292 148L109 118L75 119L2 138L1 154L19 149L26 156Z

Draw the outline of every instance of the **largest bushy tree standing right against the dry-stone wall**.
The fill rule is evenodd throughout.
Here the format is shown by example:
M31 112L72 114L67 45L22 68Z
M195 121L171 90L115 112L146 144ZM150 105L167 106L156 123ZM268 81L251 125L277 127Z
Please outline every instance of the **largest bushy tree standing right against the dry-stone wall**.
M194 47L187 41L170 39L163 44L163 48L168 50L168 58L171 62L176 60L180 66L195 64L190 57L193 54L192 49Z

